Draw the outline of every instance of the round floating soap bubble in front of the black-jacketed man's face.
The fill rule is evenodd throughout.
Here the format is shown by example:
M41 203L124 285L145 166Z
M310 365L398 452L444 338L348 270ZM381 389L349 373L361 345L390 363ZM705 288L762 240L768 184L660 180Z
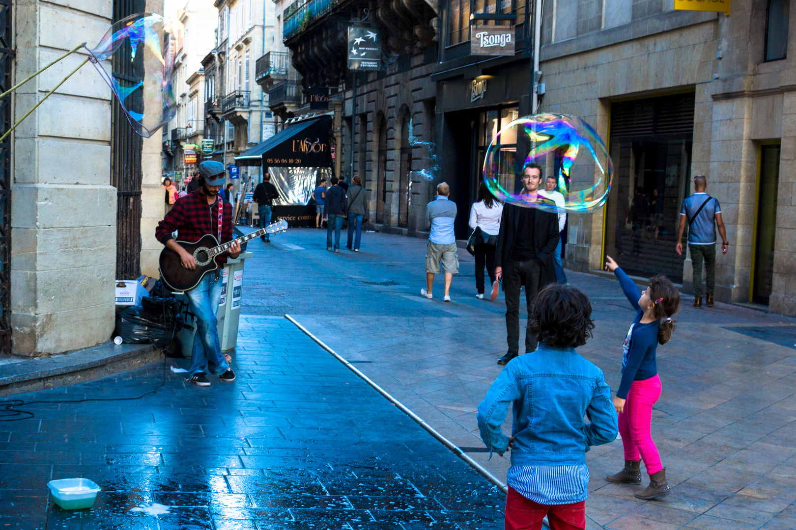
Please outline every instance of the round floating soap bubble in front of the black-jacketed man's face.
M539 189L544 189L546 177L554 176L563 203L526 188L522 175L532 163L543 175ZM484 160L484 182L497 199L551 212L586 213L602 207L613 174L611 157L595 130L567 114L533 114L509 122L492 139Z

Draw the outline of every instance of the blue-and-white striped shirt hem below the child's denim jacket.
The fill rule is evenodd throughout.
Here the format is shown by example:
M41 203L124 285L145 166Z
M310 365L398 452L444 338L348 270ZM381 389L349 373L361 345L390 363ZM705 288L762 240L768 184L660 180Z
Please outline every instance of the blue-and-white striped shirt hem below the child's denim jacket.
M511 466L506 478L517 493L540 505L570 505L585 501L589 496L586 464Z

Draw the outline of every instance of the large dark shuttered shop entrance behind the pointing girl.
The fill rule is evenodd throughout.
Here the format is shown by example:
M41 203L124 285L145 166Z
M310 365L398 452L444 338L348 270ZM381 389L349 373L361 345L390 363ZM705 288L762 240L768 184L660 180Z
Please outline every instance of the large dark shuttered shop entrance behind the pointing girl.
M605 246L626 273L663 273L681 283L680 208L690 195L694 95L611 106L614 184L606 205Z

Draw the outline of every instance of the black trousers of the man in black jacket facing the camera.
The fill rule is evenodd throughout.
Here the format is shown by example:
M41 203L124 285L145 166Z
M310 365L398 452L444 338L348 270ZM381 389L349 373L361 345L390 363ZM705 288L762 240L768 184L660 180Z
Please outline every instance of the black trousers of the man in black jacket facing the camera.
M520 289L525 285L525 307L531 313L531 304L539 292L541 265L536 261L509 260L503 270L505 291L505 331L509 343L509 354L520 353ZM525 353L537 349L537 338L525 333Z

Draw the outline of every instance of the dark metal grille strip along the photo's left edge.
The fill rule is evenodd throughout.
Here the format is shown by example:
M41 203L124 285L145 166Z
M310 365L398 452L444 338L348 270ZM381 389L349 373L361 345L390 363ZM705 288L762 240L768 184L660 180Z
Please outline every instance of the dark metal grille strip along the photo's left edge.
M11 83L11 0L0 0L0 91L7 91ZM0 98L2 129L11 126L11 95ZM0 143L0 350L11 352L11 136Z

